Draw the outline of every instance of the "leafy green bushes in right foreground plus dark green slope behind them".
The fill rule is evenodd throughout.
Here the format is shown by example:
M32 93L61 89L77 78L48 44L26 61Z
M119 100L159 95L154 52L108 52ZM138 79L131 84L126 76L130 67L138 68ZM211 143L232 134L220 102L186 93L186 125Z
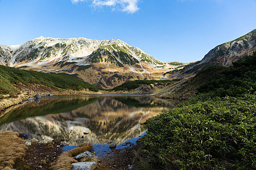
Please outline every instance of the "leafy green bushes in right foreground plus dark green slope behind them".
M147 120L138 168L256 169L256 53L233 65L204 94Z

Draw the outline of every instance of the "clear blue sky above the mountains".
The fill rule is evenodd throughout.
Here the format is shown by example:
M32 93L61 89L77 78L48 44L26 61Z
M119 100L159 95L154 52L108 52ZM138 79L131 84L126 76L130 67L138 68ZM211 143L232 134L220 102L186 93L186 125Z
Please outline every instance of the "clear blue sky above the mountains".
M256 0L0 0L0 16L0 44L118 38L164 62L192 62L256 29Z

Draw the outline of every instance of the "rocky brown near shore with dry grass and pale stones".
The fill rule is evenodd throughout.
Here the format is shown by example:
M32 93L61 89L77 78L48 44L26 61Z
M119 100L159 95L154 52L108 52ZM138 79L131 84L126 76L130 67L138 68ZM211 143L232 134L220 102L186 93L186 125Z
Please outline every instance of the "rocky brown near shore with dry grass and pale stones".
M0 143L11 136L19 141L20 148L24 148L20 155L16 151L17 143L13 143L9 152L2 153L1 159L10 156L9 153L17 153L9 165L9 168L14 170L135 170L133 151L138 145L130 144L127 148L116 150L116 145L110 144L112 152L98 157L91 152L92 145L86 143L64 152L65 144L61 139L54 139L50 143L38 143L37 139L17 132L0 133L0 136ZM12 145L11 140L9 144ZM0 167L5 167L4 164L4 161L1 162Z

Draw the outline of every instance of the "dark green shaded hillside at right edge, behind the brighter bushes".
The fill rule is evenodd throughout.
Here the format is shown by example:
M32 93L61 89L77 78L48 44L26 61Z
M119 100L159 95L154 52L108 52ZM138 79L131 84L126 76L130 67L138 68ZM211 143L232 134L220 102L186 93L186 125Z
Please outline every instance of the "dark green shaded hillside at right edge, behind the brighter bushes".
M256 52L233 63L233 66L213 74L198 89L212 96L237 96L256 91Z

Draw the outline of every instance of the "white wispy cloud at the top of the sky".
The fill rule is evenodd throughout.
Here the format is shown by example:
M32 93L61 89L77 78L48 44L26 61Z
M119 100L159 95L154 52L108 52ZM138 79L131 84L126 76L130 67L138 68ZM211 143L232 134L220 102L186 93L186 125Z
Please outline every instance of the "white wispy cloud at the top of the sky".
M72 3L78 3L82 1L91 2L96 8L102 8L104 6L111 7L113 10L118 9L122 12L129 14L135 13L139 10L139 0L71 0Z

